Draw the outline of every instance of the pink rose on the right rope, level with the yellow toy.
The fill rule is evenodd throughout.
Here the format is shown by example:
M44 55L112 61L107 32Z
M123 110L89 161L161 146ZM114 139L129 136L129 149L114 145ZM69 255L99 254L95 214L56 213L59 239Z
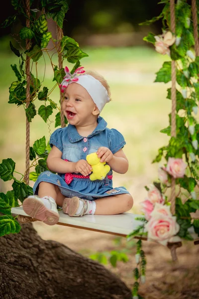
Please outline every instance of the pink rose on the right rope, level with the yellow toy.
M183 159L169 157L166 170L173 177L184 177L186 168L187 163L185 163Z

